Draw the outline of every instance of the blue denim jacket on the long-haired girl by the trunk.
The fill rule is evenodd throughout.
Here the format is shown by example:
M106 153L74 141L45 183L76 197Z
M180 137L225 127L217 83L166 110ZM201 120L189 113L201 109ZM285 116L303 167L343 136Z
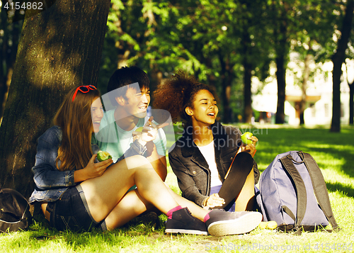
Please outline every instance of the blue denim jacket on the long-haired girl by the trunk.
M76 185L74 183L74 170L61 172L57 169L55 159L57 159L61 142L62 130L57 125L49 128L38 138L35 166L32 168L35 190L30 196L30 203L34 201L57 201L64 191L70 186ZM93 154L96 154L99 150L99 147L95 144L91 148ZM135 154L144 155L146 150L146 147L135 141L117 162ZM60 167L60 161L58 162L58 167Z

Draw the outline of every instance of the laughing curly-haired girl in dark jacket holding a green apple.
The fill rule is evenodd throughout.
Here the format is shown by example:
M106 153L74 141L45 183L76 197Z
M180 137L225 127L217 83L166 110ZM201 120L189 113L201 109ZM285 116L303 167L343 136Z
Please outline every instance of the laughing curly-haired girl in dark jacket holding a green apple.
M182 137L169 151L182 196L205 208L253 210L258 139L252 136L253 143L244 147L238 128L216 120L219 110L212 87L184 72L160 84L154 96L156 108L169 111L173 122L184 123Z

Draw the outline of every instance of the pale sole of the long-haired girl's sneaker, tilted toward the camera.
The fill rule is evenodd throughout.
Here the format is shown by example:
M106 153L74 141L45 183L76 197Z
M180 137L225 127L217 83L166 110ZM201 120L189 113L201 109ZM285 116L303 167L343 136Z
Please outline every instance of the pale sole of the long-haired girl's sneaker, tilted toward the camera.
M254 230L261 223L263 215L258 212L248 213L234 220L220 220L207 228L210 235L239 235Z

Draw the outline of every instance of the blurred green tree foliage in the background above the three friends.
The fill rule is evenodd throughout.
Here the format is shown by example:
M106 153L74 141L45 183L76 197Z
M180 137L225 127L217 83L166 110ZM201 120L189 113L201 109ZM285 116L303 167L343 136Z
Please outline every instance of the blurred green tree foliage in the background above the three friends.
M273 62L276 122L284 123L290 52L298 52L303 62L306 55L315 62L331 60L337 45L333 34L341 33L348 2L112 0L98 84L104 92L117 67L137 64L148 72L154 89L184 69L217 88L224 122L235 122L238 115L250 122L251 80L265 81ZM303 78L309 80L312 73L307 75Z

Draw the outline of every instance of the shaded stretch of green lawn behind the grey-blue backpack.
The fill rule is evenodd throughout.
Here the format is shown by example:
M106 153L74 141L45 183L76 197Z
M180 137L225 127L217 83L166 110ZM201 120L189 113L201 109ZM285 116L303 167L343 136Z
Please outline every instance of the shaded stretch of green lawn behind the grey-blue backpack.
M259 145L255 156L260 171L270 164L277 154L290 150L302 150L312 154L321 169L330 169L335 173L346 174L354 180L354 128L344 129L342 133L330 133L324 128L280 128L263 130L258 135ZM326 158L328 157L328 158ZM341 165L329 164L340 161ZM333 162L335 164L336 162ZM343 191L354 198L354 189L346 184L326 183L329 191Z

